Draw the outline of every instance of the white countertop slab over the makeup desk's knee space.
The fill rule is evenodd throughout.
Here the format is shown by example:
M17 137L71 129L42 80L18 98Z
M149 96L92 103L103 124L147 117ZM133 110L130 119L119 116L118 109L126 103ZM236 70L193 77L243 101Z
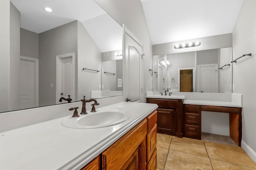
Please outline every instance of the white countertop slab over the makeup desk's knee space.
M224 106L224 107L243 107L242 105L236 104L234 102L219 102L219 101L209 101L209 100L184 100L183 104Z

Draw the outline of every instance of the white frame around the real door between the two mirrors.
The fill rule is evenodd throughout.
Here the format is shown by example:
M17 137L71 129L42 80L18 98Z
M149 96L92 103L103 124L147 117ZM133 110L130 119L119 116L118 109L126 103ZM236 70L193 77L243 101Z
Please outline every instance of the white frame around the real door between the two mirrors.
M144 45L143 45L143 43L132 33L132 31L130 31L130 29L128 29L128 27L126 27L126 25L124 25L123 24L123 68L124 68L124 71L123 71L123 84L124 84L124 88L123 88L123 90L124 90L124 97L125 97L125 99L126 98L128 98L128 87L126 87L126 77L125 77L125 72L126 72L126 69L127 68L125 68L125 56L126 56L126 49L125 49L125 47L126 47L126 43L125 43L125 41L126 41L126 39L125 39L125 35L128 35L131 39L133 39L138 45L140 45L140 47L142 47L142 55L141 55L141 57L142 57L142 74L141 74L141 88L142 88L142 96L140 96L140 101L141 102L145 102L145 99L144 99L144 73L143 73L143 71L144 71Z

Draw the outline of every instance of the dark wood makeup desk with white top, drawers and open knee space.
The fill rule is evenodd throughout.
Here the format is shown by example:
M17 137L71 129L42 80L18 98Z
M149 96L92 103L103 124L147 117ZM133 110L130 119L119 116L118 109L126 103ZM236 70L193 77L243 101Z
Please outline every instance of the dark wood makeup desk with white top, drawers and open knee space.
M229 113L229 131L233 141L241 146L242 106L232 102L184 100L183 136L201 140L201 111Z

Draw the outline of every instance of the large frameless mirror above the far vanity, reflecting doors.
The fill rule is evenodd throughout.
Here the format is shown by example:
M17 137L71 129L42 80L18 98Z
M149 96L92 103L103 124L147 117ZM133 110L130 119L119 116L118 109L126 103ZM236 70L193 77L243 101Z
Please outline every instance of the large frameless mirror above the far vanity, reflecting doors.
M167 60L170 64L166 67L168 73L168 82L166 84L160 84L158 79L154 76L152 77L152 86L155 88L152 91L162 91L164 88L171 89L172 92L183 91L180 90L180 71L185 68L194 68L194 79L195 83L190 92L221 92L221 93L231 93L232 89L230 88L230 84L232 84L232 64L227 66L221 70L218 69L218 66L223 66L225 64L230 63L232 61L232 47L221 48L221 49L209 49L202 51L190 51L184 53L172 53L165 55L154 55L152 58L152 68L153 70L157 69L159 61ZM206 76L208 80L211 81L212 84L209 84L209 87L200 87L200 81L204 82L203 74L206 72L210 72L207 68L206 72L201 73L200 75L200 67L201 66L214 66L212 70L212 74L216 74L216 76L212 76L209 79L209 76ZM216 68L215 68L216 67ZM209 70L209 71L208 71ZM158 70L159 71L159 70ZM201 79L200 79L201 78ZM177 81L172 81L177 80ZM189 83L190 84L190 83ZM201 83L202 84L202 83ZM160 87L159 87L160 86ZM211 86L211 87L210 87ZM210 90L207 90L210 89Z

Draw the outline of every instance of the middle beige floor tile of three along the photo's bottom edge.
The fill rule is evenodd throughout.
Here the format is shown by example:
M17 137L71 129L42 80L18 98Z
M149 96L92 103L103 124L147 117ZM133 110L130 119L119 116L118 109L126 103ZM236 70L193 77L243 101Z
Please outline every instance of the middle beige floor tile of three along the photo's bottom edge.
M209 158L169 150L164 170L212 170L212 166Z

